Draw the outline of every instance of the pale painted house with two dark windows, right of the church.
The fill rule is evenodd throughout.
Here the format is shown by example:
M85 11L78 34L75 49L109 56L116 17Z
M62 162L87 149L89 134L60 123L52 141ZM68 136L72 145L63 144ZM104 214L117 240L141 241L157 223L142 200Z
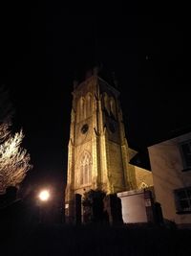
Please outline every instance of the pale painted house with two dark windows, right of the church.
M148 147L164 220L191 225L191 132Z

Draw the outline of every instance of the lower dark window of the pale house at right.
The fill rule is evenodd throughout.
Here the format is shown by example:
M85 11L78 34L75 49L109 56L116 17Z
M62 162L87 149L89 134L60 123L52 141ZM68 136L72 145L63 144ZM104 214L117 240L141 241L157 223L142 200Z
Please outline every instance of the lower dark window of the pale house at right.
M177 213L191 213L191 187L175 190Z

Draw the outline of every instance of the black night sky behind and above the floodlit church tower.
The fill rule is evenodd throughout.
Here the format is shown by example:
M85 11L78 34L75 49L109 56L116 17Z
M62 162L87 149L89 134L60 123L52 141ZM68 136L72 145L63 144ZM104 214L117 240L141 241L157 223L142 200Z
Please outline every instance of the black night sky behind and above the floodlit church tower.
M25 182L64 182L73 79L96 60L117 74L130 147L190 128L189 20L138 10L1 9L1 84L11 88L14 126L24 129L32 156Z

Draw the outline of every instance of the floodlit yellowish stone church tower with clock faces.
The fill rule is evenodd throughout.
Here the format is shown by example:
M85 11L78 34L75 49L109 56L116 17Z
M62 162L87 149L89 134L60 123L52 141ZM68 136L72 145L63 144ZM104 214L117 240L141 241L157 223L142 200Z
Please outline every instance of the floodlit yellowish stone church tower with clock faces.
M72 215L75 194L83 195L90 189L113 194L136 188L118 97L117 88L102 80L96 68L85 81L74 83L67 215Z

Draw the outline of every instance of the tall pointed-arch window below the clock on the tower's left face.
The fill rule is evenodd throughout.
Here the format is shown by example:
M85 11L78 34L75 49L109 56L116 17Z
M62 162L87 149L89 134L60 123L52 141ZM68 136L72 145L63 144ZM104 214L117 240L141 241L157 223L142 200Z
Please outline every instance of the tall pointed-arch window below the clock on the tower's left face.
M80 185L91 183L92 179L92 157L88 151L84 151L80 159Z

